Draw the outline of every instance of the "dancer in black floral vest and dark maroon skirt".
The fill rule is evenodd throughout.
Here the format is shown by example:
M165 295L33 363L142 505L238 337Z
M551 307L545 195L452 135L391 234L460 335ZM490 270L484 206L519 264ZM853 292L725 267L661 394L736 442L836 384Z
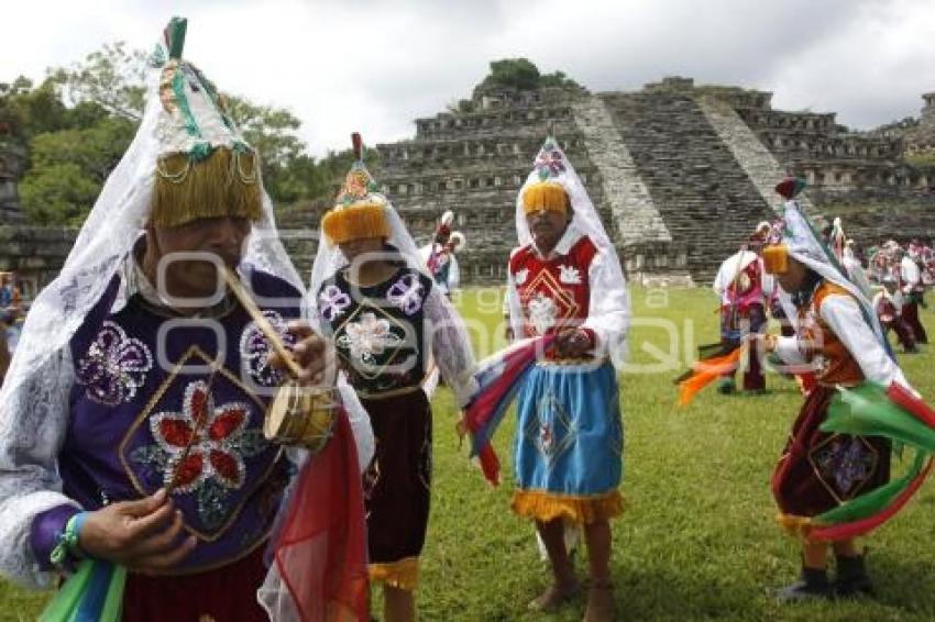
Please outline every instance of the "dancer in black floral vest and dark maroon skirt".
M429 358L459 406L474 392L466 330L428 274L389 199L361 159L321 220L311 291L319 326L376 438L364 475L371 581L383 584L387 622L416 617L415 590L431 498L432 413L422 382Z

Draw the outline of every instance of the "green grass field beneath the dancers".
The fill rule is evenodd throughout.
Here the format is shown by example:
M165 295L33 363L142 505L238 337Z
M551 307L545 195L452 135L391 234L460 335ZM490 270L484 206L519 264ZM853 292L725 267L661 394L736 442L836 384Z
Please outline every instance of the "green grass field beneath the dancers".
M707 391L674 407L670 382L685 353L717 338L716 301L705 289L632 289L631 364L622 375L626 430L623 493L614 523L613 576L627 620L932 620L935 618L935 495L928 484L905 511L866 541L878 598L779 606L769 590L798 573L796 545L782 536L769 477L802 398L770 375L769 393ZM462 301L479 354L502 344L499 298L469 290ZM935 313L923 312L935 331ZM910 380L935 399L935 355L901 357ZM513 421L496 440L505 481L488 488L458 448L446 390L435 400L435 491L422 620L580 620L583 597L554 617L526 603L547 585L531 525L508 511ZM585 569L585 559L579 568ZM32 620L45 595L0 582L0 620Z

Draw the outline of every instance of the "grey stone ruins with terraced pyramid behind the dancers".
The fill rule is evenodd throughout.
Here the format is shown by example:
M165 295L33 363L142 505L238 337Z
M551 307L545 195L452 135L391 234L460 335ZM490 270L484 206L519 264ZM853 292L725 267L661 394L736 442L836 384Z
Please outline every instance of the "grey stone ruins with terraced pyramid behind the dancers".
M930 95L912 136L935 126L935 93ZM752 226L780 209L772 186L788 173L810 184L806 211L821 220L831 208L825 215L842 215L845 230L860 242L935 237L935 167L905 163L911 140L905 129L851 132L834 113L773 110L771 98L766 91L695 86L690 78L667 78L634 92L487 90L417 119L414 138L377 145L374 173L420 244L438 216L454 210L455 229L468 237L460 260L469 284L505 281L516 244L516 197L550 127L631 280L710 281ZM2 157L0 149L0 167ZM15 197L9 175L3 186L9 156L6 166L0 209L13 204L3 197ZM302 275L324 207L295 206L279 218L284 244ZM8 208L3 223L12 219L19 222L21 214ZM44 285L73 235L0 227L0 269L18 269Z

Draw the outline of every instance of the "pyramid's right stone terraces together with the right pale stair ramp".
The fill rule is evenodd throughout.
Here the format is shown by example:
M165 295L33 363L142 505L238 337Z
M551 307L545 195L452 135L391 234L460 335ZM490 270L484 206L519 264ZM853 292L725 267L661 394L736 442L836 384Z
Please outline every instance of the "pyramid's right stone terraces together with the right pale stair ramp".
M919 148L919 129L935 127L935 96L923 96L926 108L917 121L854 132L834 113L772 110L771 93L763 91L695 86L688 78L666 79L646 90L692 97L773 207L779 204L774 180L802 175L809 181L805 210L820 224L840 215L858 243L935 237L935 166L904 159Z

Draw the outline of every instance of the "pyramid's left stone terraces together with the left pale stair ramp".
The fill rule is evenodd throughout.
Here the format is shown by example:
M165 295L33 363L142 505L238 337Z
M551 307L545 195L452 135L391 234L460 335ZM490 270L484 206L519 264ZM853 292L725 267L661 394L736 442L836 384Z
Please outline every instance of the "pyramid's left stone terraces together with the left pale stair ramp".
M551 130L582 178L631 277L688 277L603 103L583 91L484 96L416 121L413 141L378 145L380 181L419 243L451 209L468 237L462 279L502 284L516 245L516 198Z

